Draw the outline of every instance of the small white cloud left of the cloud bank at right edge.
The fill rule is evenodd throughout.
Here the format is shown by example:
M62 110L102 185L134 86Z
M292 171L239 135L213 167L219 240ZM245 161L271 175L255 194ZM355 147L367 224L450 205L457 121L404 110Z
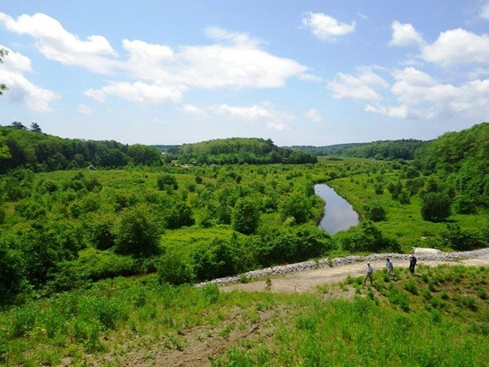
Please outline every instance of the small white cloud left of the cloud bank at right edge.
M389 84L371 70L364 70L358 76L338 73L333 82L327 84L333 91L335 100L380 100L381 95L376 89L387 88Z

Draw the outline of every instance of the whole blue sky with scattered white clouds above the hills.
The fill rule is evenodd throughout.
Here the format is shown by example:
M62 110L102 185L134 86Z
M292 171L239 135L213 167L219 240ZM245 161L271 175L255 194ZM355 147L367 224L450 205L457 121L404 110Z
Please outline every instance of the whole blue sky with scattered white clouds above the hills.
M65 138L434 139L489 120L489 0L0 1L0 124Z

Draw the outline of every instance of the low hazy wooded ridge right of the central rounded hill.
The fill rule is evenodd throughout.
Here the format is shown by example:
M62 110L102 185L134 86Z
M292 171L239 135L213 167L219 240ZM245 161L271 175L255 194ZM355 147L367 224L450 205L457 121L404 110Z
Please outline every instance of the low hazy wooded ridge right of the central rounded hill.
M325 147L294 146L315 156L353 156L375 159L413 159L416 149L428 144L423 140L379 140L371 143L337 144Z

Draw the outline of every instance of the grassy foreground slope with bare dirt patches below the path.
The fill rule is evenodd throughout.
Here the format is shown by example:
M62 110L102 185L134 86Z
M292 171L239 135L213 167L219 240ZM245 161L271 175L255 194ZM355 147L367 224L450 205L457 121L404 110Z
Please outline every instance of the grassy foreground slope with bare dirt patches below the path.
M102 281L1 313L0 363L485 365L486 267L362 281L309 295L173 288L155 275ZM332 300L338 293L344 299Z

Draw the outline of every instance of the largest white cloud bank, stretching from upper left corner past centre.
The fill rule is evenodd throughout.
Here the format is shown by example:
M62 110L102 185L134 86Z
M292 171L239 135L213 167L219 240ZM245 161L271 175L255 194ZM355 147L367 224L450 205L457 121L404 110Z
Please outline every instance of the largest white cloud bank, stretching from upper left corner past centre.
M280 88L308 69L263 50L257 39L220 28L205 29L212 44L181 45L175 50L165 44L124 39L128 57L120 60L104 36L82 40L42 13L14 20L0 12L0 23L12 32L34 37L36 48L49 60L131 79L111 81L99 90L85 92L99 101L116 95L135 102L161 103L180 101L182 93L192 88Z

